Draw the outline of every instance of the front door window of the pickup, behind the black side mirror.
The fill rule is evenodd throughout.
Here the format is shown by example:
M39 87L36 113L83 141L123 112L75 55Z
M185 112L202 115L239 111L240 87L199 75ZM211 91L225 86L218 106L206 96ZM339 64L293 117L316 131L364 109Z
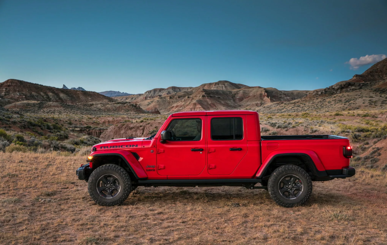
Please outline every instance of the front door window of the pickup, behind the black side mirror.
M167 130L172 133L170 141L198 141L202 138L202 120L173 119Z

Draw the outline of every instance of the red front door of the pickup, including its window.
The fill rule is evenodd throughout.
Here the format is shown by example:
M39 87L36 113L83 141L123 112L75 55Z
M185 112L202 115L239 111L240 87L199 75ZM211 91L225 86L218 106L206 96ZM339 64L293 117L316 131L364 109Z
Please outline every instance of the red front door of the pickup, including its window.
M205 116L175 117L163 130L172 133L166 143L157 142L160 175L199 175L205 168Z

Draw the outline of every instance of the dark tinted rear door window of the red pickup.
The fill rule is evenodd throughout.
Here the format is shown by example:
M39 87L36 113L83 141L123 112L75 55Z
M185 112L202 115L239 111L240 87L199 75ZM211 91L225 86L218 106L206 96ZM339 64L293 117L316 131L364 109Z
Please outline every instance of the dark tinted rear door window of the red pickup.
M212 140L241 140L243 120L241 117L219 117L211 119Z

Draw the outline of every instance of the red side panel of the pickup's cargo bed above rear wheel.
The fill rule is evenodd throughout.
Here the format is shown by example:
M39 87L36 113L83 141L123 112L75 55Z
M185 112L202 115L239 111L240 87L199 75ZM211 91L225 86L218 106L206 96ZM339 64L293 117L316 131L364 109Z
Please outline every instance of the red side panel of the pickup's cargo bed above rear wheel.
M306 150L316 153L325 170L342 169L349 166L349 158L342 154L342 148L349 146L348 139L317 139L317 140L262 140L262 166L270 161L275 151ZM315 160L313 160L316 162ZM318 170L319 167L316 164Z

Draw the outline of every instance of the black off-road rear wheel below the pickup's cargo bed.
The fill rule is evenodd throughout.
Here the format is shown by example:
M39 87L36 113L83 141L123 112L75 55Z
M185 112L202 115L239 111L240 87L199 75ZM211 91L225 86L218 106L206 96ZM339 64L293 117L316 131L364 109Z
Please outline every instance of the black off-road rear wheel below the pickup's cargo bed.
M292 176L294 176L294 178ZM293 182L291 182L291 180ZM286 182L286 185L284 185L284 182ZM289 183L291 184L288 185ZM295 190L292 190L293 188L295 188ZM312 194L313 186L312 180L305 170L296 165L289 164L274 170L269 178L267 189L276 204L285 208L292 208L308 201Z

